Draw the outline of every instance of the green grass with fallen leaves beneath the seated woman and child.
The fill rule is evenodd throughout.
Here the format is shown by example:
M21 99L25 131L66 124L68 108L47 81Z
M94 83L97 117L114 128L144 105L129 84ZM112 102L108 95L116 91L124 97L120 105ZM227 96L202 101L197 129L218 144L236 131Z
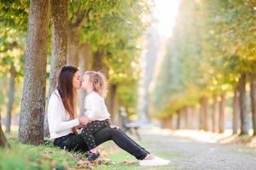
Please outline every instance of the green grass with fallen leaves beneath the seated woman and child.
M105 161L101 165L91 165L86 161L86 156L78 152L67 152L56 148L52 144L32 145L20 144L17 141L17 134L7 135L11 149L0 149L0 169L106 169L106 170L133 170L133 169L174 169L172 166L166 167L140 167L137 159L131 156L113 142L102 144L99 150ZM143 145L148 145L143 142ZM154 152L156 156L171 159L181 156L179 153Z

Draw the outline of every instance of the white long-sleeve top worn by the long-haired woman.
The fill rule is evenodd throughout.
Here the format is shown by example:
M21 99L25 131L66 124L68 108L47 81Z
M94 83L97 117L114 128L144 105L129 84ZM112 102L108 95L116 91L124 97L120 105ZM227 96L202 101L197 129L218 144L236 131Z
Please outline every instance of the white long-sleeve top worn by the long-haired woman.
M47 112L50 139L73 133L72 127L79 125L78 118L69 120L69 114L64 108L61 95L57 89L50 95Z

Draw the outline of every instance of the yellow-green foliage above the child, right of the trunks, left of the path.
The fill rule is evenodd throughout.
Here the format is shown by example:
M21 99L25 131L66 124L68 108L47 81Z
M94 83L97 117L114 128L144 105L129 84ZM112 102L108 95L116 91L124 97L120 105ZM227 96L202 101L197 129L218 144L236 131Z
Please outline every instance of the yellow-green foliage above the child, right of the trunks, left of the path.
M137 65L141 50L137 44L146 28L143 16L148 13L147 3L143 0L95 3L89 8L89 19L82 27L80 41L90 44L93 52L103 49L109 82L118 84L120 102L132 110L137 103L135 92L140 71Z

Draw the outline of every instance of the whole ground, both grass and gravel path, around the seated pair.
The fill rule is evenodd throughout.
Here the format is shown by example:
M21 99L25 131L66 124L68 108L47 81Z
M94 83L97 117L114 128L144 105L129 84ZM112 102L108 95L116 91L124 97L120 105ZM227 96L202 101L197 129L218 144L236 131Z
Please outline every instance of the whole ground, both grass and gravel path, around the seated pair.
M0 150L1 169L255 169L256 148L245 144L230 144L230 134L201 131L162 129L141 131L142 140L135 139L156 156L171 161L163 167L140 167L138 161L120 150L113 142L99 148L106 159L101 165L89 165L83 154L69 153L52 145L32 146L19 144L9 137L11 150ZM233 138L233 137L232 137ZM21 158L20 158L21 157ZM29 163L27 163L29 162ZM39 168L38 168L39 167Z

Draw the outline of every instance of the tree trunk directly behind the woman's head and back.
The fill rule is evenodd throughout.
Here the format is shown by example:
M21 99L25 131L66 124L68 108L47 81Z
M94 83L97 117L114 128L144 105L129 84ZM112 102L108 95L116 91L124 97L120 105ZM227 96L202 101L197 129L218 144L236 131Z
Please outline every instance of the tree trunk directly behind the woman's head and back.
M57 84L57 72L67 64L67 13L68 1L50 0L51 8L51 60L49 72L49 94L55 90ZM44 116L44 136L49 136L47 114Z

